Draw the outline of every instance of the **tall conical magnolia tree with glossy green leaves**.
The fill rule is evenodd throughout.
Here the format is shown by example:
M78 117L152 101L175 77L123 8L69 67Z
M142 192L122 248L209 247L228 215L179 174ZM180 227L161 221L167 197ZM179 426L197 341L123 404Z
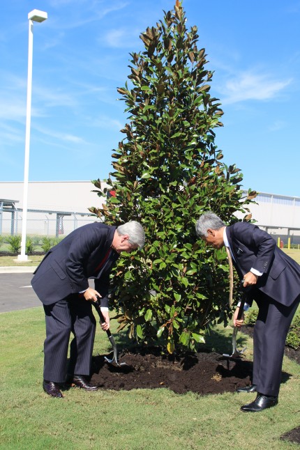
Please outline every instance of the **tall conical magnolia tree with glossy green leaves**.
M214 143L223 111L181 3L140 38L144 51L130 54L128 82L118 88L128 123L109 187L93 181L99 196L114 195L90 210L106 224L137 220L146 231L144 249L120 258L112 274L119 330L148 343L160 338L169 352L195 349L207 328L231 315L226 253L197 240L195 222L207 210L229 223L237 211L249 219L255 192L242 198L240 169L224 164Z

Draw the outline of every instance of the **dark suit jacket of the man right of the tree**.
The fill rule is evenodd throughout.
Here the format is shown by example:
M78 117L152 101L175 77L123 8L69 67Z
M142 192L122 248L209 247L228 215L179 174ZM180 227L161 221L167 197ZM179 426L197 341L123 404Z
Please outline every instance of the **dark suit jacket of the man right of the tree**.
M271 235L258 226L237 222L226 227L226 235L239 277L242 279L251 267L262 272L256 288L290 306L300 295L300 265L278 249ZM255 298L255 291L253 295ZM247 301L251 301L250 297Z

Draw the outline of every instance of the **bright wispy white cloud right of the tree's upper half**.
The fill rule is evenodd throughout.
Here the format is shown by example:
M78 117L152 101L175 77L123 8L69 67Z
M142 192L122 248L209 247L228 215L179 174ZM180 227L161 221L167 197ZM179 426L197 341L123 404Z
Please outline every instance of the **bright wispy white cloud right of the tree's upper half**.
M283 91L292 79L278 81L268 75L242 72L235 79L228 80L222 88L223 104L243 102L245 100L269 100Z

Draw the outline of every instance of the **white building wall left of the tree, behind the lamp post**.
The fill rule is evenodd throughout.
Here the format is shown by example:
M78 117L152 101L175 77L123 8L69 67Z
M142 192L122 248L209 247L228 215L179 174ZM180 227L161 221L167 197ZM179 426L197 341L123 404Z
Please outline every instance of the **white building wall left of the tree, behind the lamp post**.
M105 187L105 183L103 183ZM89 216L91 206L99 208L106 197L99 197L91 181L29 182L27 235L67 235L79 226L95 221ZM0 199L15 200L15 208L23 208L23 183L0 183ZM31 210L36 210L31 212ZM68 215L59 214L68 212ZM0 211L0 234L22 233L22 211Z

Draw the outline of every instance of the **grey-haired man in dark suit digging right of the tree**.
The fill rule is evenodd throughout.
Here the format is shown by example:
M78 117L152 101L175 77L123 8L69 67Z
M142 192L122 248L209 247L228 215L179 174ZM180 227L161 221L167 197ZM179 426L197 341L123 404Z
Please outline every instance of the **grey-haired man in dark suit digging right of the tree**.
M250 286L247 303L259 308L254 327L253 385L237 391L257 392L243 412L257 412L278 403L285 339L300 300L300 266L282 250L266 231L248 222L225 226L215 214L200 216L197 235L216 249L230 248L232 263ZM243 317L234 325L243 323Z

